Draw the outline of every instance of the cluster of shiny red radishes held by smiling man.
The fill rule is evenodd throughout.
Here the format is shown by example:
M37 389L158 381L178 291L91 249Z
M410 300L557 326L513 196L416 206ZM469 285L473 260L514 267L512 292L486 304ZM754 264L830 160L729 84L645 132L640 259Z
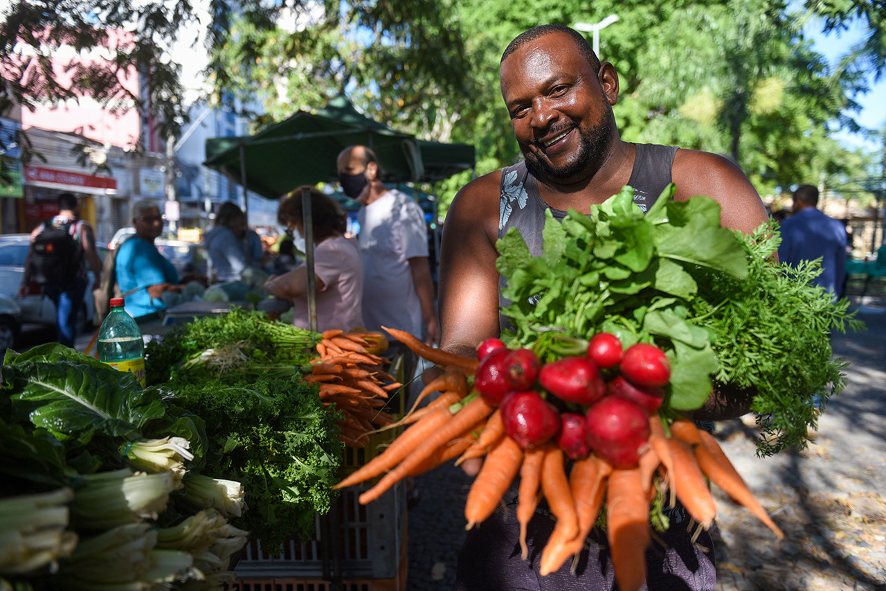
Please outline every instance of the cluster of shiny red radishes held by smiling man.
M573 460L591 451L617 467L635 466L649 437L649 414L664 399L671 366L654 344L625 351L616 335L599 333L584 356L542 365L529 349L499 339L478 348L474 388L499 406L505 433L529 448L555 440Z

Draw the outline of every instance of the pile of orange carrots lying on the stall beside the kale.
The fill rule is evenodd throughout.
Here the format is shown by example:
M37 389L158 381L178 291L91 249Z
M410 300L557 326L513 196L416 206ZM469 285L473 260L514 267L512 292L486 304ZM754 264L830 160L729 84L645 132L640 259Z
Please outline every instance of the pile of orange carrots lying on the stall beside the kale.
M384 340L380 333L327 330L316 344L318 357L304 367L302 381L317 384L323 405L344 414L338 438L345 445L365 447L369 433L397 420L384 410L389 392L401 386L385 371L390 360L377 354Z

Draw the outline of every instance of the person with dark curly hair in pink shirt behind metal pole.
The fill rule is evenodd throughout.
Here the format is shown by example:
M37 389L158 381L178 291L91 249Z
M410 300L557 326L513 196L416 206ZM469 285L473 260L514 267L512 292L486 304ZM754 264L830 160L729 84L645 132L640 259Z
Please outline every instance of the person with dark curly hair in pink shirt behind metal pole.
M304 214L299 187L280 201L277 218L292 231L305 234ZM311 217L314 232L314 275L317 330L351 330L363 327L363 261L354 238L346 238L345 213L328 195L315 187L311 194ZM265 282L269 295L291 300L292 324L310 327L307 309L307 265L283 275L272 275Z

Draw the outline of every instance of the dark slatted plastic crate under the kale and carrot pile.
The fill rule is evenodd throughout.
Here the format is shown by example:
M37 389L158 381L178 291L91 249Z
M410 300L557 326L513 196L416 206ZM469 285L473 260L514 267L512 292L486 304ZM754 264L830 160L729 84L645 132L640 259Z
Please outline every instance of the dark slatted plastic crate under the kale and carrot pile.
M328 514L315 516L314 539L286 540L279 556L250 540L237 562L237 579L329 580L336 573L354 580L397 578L406 554L406 485L361 505L357 498L368 488L342 490Z

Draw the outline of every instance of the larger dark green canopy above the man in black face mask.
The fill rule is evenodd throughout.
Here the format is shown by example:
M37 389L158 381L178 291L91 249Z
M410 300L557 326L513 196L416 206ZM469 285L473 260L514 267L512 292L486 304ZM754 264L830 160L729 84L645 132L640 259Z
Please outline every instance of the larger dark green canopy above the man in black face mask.
M416 138L360 114L343 96L253 136L207 139L204 164L253 193L278 199L299 185L335 181L338 154L357 144L375 150L385 182L424 176Z

